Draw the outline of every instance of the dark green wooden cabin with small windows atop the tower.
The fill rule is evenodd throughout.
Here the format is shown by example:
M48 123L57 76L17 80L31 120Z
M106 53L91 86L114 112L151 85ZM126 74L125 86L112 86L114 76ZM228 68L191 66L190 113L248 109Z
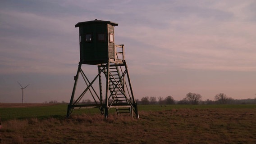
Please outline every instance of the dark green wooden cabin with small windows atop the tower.
M114 59L114 26L118 23L102 20L80 22L80 63L101 64Z

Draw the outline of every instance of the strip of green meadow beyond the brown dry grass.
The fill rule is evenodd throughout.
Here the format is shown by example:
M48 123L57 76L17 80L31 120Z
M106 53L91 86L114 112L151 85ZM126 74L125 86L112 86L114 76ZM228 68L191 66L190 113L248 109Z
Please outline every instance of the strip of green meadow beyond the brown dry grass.
M256 104L239 104L239 105L138 105L139 111L162 111L179 108L256 108ZM0 117L2 121L9 119L24 118L49 118L49 117L65 117L67 112L67 104L54 104L47 106L34 106L22 108L0 108ZM114 108L110 109L110 113L115 112ZM93 114L101 113L98 108L82 108L75 109L73 114Z

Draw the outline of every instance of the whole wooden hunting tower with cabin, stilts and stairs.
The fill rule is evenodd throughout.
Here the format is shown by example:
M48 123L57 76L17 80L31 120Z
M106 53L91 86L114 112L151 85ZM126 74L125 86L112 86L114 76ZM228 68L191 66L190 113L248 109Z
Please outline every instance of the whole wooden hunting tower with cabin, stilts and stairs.
M74 76L75 82L67 117L75 108L99 108L107 118L110 108L115 108L117 114L129 113L133 117L135 112L136 117L139 118L128 67L124 59L124 45L115 45L114 26L118 26L118 23L97 19L75 25L79 27L80 62L77 74ZM82 65L97 66L98 71L94 79L88 79L85 71L82 70ZM85 89L76 96L79 74L82 75ZM102 75L105 77L105 91L102 87L104 83ZM97 79L98 84L95 86ZM82 101L88 95L93 102Z

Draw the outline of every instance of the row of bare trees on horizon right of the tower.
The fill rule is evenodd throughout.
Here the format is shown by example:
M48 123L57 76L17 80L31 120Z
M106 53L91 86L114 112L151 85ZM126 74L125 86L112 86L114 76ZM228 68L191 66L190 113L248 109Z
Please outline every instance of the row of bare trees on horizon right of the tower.
M224 93L216 94L214 100L207 99L202 101L201 94L197 93L187 93L186 97L182 100L176 101L172 96L163 97L148 97L145 96L141 100L136 99L138 104L255 104L255 99L233 99L228 97Z

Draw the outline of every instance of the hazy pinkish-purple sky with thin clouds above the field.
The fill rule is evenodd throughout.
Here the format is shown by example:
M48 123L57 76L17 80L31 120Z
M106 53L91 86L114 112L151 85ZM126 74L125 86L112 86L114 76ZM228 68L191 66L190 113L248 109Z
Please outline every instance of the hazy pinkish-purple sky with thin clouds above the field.
M74 25L94 19L119 24L135 99L256 98L255 0L0 0L0 103L22 102L18 82L24 103L69 102Z

